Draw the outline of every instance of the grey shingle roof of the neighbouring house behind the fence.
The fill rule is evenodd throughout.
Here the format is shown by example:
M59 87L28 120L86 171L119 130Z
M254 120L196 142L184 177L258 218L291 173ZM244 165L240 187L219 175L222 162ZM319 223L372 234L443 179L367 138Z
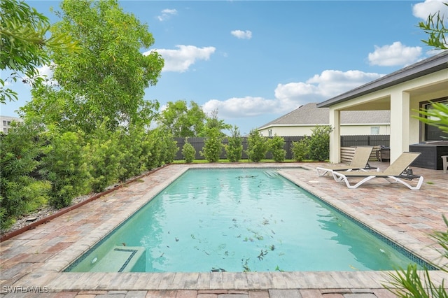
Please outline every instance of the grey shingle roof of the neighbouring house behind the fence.
M390 123L390 111L342 111L341 124ZM329 125L330 108L317 108L316 103L305 104L277 118L259 129L274 126Z

